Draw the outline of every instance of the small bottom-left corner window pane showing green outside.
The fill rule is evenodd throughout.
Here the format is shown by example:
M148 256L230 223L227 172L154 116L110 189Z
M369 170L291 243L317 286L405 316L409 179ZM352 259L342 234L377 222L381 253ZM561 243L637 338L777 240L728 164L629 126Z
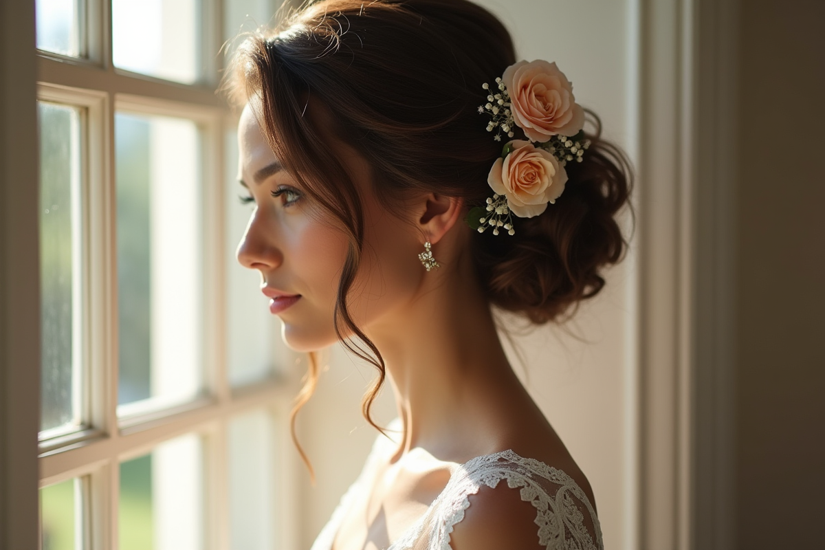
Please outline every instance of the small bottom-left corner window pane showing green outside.
M42 550L80 548L78 513L81 505L80 479L40 489L40 537Z

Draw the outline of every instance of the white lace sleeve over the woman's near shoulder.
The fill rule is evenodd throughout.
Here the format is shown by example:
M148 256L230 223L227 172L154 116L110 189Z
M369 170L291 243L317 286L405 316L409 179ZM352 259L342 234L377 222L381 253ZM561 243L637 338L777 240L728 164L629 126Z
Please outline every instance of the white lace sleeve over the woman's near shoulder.
M517 496L501 489L479 493L483 487L496 489L502 481L509 489L518 489ZM465 515L461 538L467 548L603 550L596 512L576 482L556 468L512 451L464 464L439 500L431 518L429 550L464 550L453 548L450 540ZM527 502L532 513L529 506L521 505ZM530 546L522 546L521 541L531 541L525 543Z

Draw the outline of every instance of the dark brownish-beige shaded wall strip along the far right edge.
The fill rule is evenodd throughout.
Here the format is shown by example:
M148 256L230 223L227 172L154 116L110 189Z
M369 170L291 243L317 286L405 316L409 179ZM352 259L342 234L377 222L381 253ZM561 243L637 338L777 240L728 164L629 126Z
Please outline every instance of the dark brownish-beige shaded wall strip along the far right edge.
M825 2L739 9L736 548L822 548Z

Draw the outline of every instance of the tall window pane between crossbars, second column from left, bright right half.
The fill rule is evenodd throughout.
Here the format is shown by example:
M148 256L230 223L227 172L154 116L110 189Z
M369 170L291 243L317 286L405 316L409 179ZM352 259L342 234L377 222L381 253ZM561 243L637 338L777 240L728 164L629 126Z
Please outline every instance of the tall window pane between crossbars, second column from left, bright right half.
M191 120L118 113L115 162L118 403L186 402L202 379L198 128Z

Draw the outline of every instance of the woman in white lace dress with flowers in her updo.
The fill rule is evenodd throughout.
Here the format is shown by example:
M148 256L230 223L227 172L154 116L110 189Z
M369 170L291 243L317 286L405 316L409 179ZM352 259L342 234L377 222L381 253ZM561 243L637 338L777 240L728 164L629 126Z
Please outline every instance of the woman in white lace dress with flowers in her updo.
M602 548L491 311L558 320L625 250L624 157L559 68L516 62L466 0L327 0L247 39L228 84L255 204L238 260L290 348L375 365L370 423L385 378L398 403L314 550Z

